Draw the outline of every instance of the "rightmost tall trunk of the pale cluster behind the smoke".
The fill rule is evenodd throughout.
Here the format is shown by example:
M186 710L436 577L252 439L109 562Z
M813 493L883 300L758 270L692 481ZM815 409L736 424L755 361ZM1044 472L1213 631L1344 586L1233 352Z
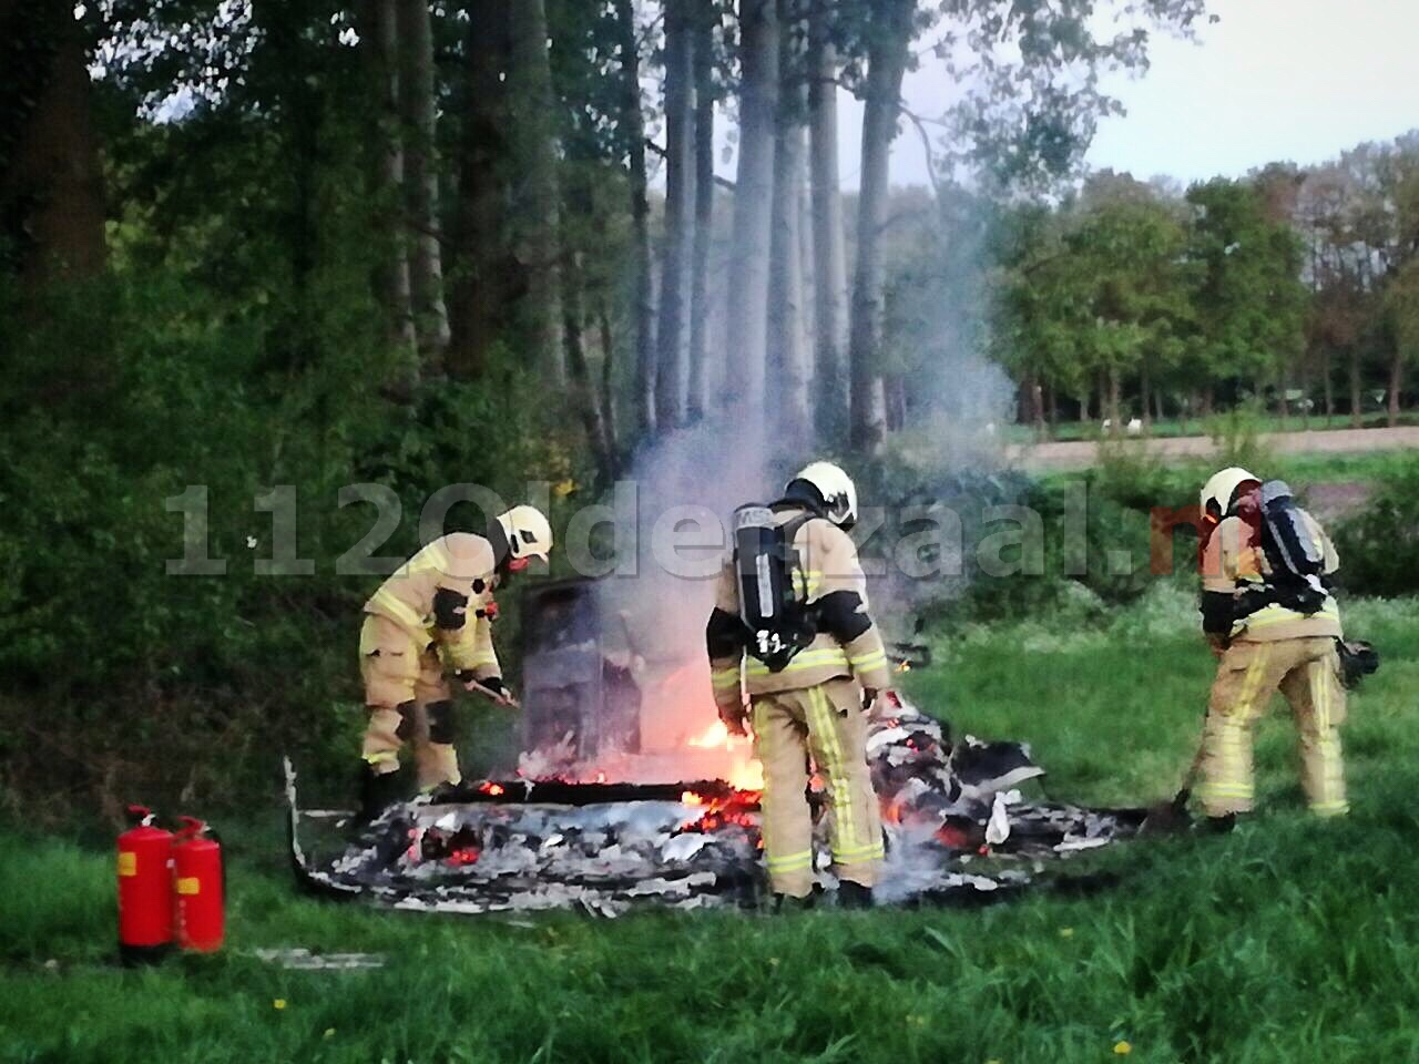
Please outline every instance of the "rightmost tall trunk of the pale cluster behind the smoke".
M907 68L912 0L880 0L871 9L863 112L861 192L857 199L857 267L853 272L849 363L854 447L876 451L885 434L878 348L883 329L881 237L887 224L891 142L897 136L901 78Z

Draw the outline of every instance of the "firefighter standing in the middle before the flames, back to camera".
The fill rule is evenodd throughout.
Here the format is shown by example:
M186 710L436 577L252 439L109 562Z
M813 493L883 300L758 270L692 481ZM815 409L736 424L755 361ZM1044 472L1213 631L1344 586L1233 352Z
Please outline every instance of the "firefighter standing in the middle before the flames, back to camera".
M779 538L780 556L792 559L792 589L783 597L796 609L779 611L792 650L765 654L779 633L744 606L746 594L759 597L752 583L759 566L742 556L741 546L725 562L705 627L715 705L731 732L744 735L746 719L753 725L763 765L763 853L778 904L810 904L813 894L806 796L812 758L832 809L840 902L866 908L883 858L880 811L867 769L867 711L884 697L888 672L881 634L867 611L857 549L847 535L857 519L857 491L837 465L813 462L789 481L779 502L758 512ZM751 582L748 592L741 579Z

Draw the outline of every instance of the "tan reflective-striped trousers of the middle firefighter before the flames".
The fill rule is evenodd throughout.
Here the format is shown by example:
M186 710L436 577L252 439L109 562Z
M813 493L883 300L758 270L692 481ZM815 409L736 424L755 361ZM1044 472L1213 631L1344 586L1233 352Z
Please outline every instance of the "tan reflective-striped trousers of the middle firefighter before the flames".
M883 858L883 830L857 687L832 680L755 695L752 702L755 748L763 763L763 854L773 892L803 898L813 888L810 755L827 787L837 875L871 887Z

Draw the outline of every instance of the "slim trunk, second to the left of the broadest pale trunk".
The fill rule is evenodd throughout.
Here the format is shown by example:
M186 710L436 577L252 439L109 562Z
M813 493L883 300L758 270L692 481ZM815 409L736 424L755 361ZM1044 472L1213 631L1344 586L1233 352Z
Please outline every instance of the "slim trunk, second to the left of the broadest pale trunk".
M666 0L666 244L660 270L656 424L685 424L690 399L690 271L695 204L694 11Z

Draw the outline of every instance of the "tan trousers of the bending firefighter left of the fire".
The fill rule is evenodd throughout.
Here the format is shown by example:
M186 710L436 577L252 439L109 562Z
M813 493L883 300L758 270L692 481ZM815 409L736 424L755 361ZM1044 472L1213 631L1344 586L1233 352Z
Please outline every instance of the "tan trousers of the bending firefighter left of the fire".
M380 775L397 772L407 739L414 748L421 790L457 783L461 775L451 741L453 695L433 647L420 645L387 617L368 614L359 654L369 709L365 760Z

